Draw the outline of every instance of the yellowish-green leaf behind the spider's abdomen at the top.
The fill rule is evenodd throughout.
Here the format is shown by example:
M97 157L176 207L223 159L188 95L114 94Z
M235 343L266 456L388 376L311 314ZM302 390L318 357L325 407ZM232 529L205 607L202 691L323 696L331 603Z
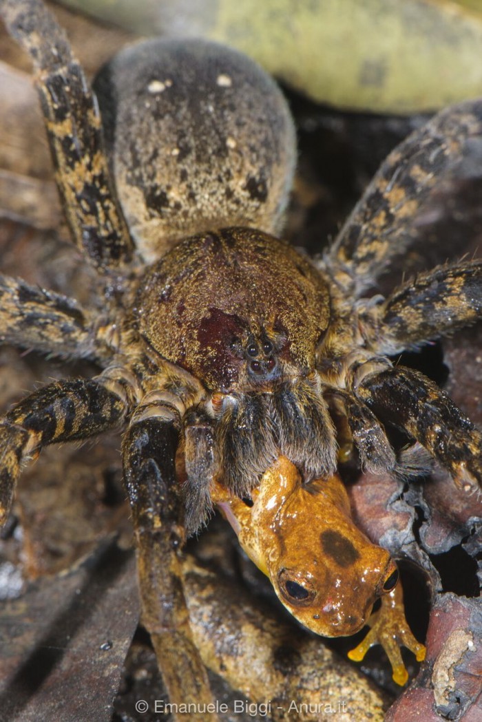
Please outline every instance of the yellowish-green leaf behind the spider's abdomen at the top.
M143 35L228 43L296 90L338 108L405 114L482 93L480 5L444 0L64 4Z

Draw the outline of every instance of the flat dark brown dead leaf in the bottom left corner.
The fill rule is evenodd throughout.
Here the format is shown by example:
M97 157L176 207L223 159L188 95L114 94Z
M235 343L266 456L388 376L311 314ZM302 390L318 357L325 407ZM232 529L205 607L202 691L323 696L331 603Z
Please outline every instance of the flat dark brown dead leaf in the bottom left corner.
M4 601L1 718L108 722L138 619L133 554L112 543Z

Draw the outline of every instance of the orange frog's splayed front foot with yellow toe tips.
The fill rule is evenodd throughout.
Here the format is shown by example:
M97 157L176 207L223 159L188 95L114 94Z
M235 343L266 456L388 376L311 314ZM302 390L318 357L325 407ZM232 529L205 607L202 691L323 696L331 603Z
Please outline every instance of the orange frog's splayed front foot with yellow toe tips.
M380 644L387 653L392 665L392 679L397 684L403 685L408 681L408 671L403 664L400 646L408 648L413 652L418 662L425 659L426 649L423 644L417 642L408 627L403 608L403 591L399 583L390 594L382 597L382 606L378 612L371 615L369 619L371 630L365 639L354 649L348 652L348 658L361 662L363 657L374 644Z

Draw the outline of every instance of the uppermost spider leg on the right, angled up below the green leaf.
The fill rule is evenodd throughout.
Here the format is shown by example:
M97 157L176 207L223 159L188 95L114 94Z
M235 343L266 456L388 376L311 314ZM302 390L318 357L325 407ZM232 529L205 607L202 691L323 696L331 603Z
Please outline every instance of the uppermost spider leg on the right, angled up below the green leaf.
M439 113L390 153L324 256L345 295L361 297L418 243L416 216L481 136L482 100L470 100Z

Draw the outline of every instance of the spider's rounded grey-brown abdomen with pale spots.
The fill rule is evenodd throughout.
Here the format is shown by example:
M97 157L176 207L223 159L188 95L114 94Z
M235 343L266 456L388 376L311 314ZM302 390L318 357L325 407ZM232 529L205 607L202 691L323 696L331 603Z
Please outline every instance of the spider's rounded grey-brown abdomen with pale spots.
M148 40L113 58L94 87L145 260L212 227L280 230L295 133L282 93L254 61L205 40Z

